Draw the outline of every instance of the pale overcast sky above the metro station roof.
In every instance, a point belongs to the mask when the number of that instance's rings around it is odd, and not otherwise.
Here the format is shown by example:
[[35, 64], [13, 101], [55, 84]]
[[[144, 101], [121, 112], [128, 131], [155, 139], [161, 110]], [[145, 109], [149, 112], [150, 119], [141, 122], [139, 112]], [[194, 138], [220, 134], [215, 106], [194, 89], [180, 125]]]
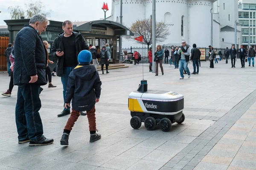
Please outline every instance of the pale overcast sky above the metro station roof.
[[[25, 3], [35, 2], [36, 0], [0, 0], [0, 25], [6, 25], [3, 20], [9, 20], [9, 6], [20, 6], [25, 9]], [[101, 9], [103, 2], [108, 3], [109, 11], [106, 17], [111, 16], [112, 0], [41, 0], [44, 2], [45, 11], [51, 10], [50, 20], [79, 20], [90, 21], [104, 18], [104, 11]], [[25, 11], [25, 10], [24, 10]]]

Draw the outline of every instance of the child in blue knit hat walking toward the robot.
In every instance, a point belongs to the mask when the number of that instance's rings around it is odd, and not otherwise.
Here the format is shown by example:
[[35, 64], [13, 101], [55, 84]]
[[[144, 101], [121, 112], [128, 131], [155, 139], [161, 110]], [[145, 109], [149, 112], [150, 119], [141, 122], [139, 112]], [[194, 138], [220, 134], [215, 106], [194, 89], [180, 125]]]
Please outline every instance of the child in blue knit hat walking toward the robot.
[[72, 127], [80, 115], [80, 111], [87, 112], [90, 130], [90, 142], [101, 138], [96, 133], [95, 103], [99, 102], [102, 82], [94, 65], [90, 65], [92, 54], [83, 50], [78, 55], [79, 65], [74, 68], [68, 77], [65, 108], [70, 107], [72, 99], [72, 112], [64, 127], [61, 145], [68, 145], [68, 138]]

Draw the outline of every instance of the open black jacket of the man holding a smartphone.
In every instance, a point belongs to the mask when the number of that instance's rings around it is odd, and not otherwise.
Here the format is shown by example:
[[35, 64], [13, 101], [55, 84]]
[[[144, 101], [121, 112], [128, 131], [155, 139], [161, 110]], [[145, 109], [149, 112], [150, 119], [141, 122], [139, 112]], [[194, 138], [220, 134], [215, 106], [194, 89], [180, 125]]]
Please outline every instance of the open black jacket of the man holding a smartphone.
[[[78, 57], [78, 54], [82, 50], [89, 50], [89, 46], [87, 43], [84, 41], [84, 37], [79, 31], [73, 31], [72, 32], [75, 35], [75, 45], [76, 45], [76, 58]], [[64, 51], [64, 45], [63, 45], [63, 36], [64, 32], [61, 32], [58, 34], [58, 37], [55, 38], [53, 44], [52, 44], [52, 57], [54, 59], [57, 59], [57, 64], [56, 64], [56, 74], [57, 76], [61, 77], [63, 73], [63, 65], [64, 65], [64, 56], [58, 57], [56, 55], [57, 49], [61, 49], [61, 51]], [[78, 62], [77, 62], [78, 64]]]

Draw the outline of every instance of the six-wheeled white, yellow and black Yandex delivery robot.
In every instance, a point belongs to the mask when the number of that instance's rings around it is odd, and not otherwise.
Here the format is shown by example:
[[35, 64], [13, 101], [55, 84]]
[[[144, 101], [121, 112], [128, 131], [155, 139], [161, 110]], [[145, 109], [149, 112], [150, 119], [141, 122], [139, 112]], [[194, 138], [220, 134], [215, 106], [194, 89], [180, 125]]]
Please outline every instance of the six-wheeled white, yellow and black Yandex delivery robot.
[[147, 80], [141, 80], [137, 91], [128, 96], [128, 108], [131, 111], [131, 127], [138, 129], [141, 122], [147, 130], [154, 130], [160, 125], [167, 132], [172, 123], [182, 123], [184, 96], [172, 91], [148, 90]]

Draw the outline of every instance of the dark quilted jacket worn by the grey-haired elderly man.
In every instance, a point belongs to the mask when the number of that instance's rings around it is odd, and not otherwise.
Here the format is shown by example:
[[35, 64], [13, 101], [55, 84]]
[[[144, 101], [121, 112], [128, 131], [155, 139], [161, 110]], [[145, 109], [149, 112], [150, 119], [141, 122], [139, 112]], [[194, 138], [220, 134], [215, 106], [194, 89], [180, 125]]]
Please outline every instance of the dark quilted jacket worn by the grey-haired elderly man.
[[46, 85], [46, 48], [37, 31], [32, 26], [25, 25], [15, 38], [15, 62], [13, 69], [13, 84], [28, 84], [30, 76], [38, 75], [33, 84]]

